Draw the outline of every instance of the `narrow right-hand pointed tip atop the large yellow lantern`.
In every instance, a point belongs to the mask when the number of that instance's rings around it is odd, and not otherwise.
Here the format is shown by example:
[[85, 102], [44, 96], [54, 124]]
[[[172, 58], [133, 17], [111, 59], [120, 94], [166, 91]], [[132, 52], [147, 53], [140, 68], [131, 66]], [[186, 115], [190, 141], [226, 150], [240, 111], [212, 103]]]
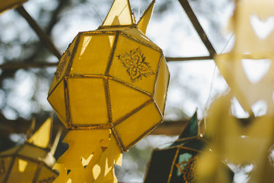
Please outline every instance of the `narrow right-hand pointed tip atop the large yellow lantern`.
[[153, 8], [154, 8], [155, 0], [151, 1], [145, 12], [142, 13], [140, 20], [137, 23], [137, 28], [144, 34], [147, 32], [147, 25], [149, 25], [149, 21], [152, 16]]

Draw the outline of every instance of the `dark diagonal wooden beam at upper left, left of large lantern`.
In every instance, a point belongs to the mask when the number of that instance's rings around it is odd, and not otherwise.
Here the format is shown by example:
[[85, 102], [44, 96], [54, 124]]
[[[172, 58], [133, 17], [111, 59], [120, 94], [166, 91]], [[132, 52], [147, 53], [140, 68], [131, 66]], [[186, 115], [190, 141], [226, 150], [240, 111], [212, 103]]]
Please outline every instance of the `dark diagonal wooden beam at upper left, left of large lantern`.
[[47, 36], [47, 34], [45, 34], [45, 32], [42, 31], [38, 23], [36, 23], [36, 21], [32, 19], [32, 16], [29, 15], [25, 8], [21, 5], [18, 8], [16, 8], [16, 10], [19, 14], [21, 14], [21, 16], [25, 18], [27, 23], [29, 23], [30, 27], [34, 29], [34, 32], [36, 32], [37, 36], [40, 38], [42, 43], [58, 58], [58, 60], [60, 60], [61, 54], [58, 51], [58, 49], [56, 49], [55, 45], [53, 44], [49, 36]]

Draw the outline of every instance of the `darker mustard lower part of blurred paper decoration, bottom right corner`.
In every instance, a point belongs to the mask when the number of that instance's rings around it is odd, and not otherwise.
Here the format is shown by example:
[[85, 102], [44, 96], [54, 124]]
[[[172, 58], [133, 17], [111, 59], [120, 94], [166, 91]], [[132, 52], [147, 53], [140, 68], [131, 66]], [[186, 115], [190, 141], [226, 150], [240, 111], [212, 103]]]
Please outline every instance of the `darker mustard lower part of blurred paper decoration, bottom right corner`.
[[[232, 115], [233, 97], [229, 93], [212, 103], [204, 136], [208, 140], [208, 146], [218, 158], [234, 164], [235, 167], [253, 167], [249, 173], [249, 182], [273, 182], [271, 152], [274, 143], [274, 117], [264, 115], [242, 123]], [[198, 171], [203, 178], [200, 182], [212, 182], [216, 175], [222, 173], [220, 164], [210, 154], [201, 154], [200, 162], [203, 165]]]

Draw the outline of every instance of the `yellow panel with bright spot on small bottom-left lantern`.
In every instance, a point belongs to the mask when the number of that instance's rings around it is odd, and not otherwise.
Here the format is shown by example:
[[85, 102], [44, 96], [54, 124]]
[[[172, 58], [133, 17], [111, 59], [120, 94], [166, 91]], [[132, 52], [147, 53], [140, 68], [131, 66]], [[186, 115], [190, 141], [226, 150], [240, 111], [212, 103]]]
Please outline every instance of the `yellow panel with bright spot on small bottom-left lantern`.
[[29, 183], [34, 180], [34, 175], [37, 170], [37, 164], [27, 159], [18, 158], [14, 159], [14, 165], [10, 172], [8, 183], [22, 182]]

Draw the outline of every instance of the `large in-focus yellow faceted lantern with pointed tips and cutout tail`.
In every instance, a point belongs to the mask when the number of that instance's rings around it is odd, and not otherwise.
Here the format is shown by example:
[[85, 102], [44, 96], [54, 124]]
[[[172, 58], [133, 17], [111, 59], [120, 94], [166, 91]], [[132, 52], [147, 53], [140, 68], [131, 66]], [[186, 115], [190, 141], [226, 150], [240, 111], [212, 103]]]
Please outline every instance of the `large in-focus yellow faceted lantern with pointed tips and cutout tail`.
[[169, 70], [145, 36], [154, 3], [135, 23], [129, 1], [115, 0], [103, 24], [63, 54], [48, 97], [69, 130], [56, 181], [116, 181], [121, 152], [163, 121]]

